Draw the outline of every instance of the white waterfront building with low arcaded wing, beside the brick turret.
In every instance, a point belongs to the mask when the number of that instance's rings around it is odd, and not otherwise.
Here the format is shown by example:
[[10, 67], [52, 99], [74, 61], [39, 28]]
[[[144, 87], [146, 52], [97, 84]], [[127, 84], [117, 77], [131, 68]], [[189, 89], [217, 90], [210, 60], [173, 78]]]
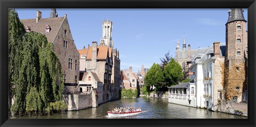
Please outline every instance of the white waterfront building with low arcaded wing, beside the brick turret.
[[222, 98], [225, 52], [225, 44], [219, 42], [199, 48], [187, 62], [190, 82], [169, 87], [169, 102], [215, 111], [218, 98]]

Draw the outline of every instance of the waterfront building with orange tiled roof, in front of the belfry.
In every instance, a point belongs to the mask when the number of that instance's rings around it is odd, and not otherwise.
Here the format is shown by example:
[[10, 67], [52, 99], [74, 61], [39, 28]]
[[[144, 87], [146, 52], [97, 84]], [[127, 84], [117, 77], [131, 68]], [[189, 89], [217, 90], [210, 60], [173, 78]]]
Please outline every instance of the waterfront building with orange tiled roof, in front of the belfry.
[[[102, 89], [95, 86], [98, 91], [102, 91], [102, 100], [104, 103], [113, 99], [114, 86], [111, 84], [111, 74], [113, 67], [113, 55], [112, 48], [107, 46], [98, 46], [96, 41], [92, 42], [92, 46], [78, 50], [80, 63], [84, 64], [84, 69], [81, 69], [81, 73], [92, 72], [95, 77], [99, 78], [99, 81], [103, 83]], [[83, 60], [85, 59], [85, 60]], [[81, 65], [82, 66], [82, 65]], [[80, 75], [79, 79], [82, 79]], [[83, 82], [89, 81], [89, 77], [85, 78]], [[94, 83], [94, 82], [92, 82]], [[95, 84], [95, 83], [94, 83]]]

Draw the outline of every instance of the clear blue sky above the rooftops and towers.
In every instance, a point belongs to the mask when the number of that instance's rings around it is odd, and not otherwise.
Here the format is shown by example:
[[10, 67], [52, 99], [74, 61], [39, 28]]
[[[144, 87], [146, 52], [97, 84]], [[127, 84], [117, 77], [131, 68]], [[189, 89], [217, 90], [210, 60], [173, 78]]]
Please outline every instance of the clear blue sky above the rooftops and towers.
[[[51, 9], [16, 9], [20, 19], [35, 19], [36, 10], [49, 18]], [[214, 41], [225, 43], [229, 9], [57, 9], [67, 14], [77, 49], [100, 43], [102, 21], [113, 22], [114, 48], [119, 50], [121, 70], [141, 65], [150, 68], [170, 51], [175, 56], [177, 40], [182, 49], [183, 35], [191, 49], [208, 47]], [[247, 9], [244, 9], [247, 20]]]

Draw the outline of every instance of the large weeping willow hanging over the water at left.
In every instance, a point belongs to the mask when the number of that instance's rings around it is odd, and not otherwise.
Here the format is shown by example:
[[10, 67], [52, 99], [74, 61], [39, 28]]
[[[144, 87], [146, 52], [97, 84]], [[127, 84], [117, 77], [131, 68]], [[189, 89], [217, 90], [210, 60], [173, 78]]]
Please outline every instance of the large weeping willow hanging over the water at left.
[[[9, 19], [12, 16], [17, 16], [17, 18], [9, 22], [9, 25], [13, 22], [20, 22], [15, 10], [9, 11]], [[53, 52], [52, 43], [48, 43], [45, 35], [41, 33], [20, 33], [23, 34], [22, 38], [18, 39], [21, 45], [18, 44], [19, 46], [16, 48], [19, 50], [19, 54], [10, 54], [12, 57], [9, 59], [12, 61], [15, 60], [13, 57], [19, 57], [19, 59], [16, 58], [18, 62], [14, 61], [13, 63], [20, 64], [18, 67], [14, 64], [13, 67], [16, 71], [13, 76], [9, 75], [13, 82], [15, 96], [11, 111], [15, 114], [42, 115], [66, 109], [66, 104], [62, 100], [64, 84], [61, 76], [61, 64], [58, 56]], [[17, 39], [15, 36], [13, 38]], [[10, 39], [9, 41], [11, 41]], [[10, 45], [9, 43], [9, 47]], [[11, 65], [9, 64], [9, 69], [12, 67]]]

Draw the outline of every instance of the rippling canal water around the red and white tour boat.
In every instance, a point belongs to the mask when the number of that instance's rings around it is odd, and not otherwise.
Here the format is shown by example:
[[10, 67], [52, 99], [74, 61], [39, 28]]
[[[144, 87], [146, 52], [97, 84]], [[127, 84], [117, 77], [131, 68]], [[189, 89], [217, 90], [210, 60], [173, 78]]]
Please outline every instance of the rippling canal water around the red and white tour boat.
[[[140, 107], [142, 113], [125, 117], [109, 117], [107, 111], [115, 107]], [[212, 112], [207, 109], [187, 107], [168, 103], [168, 99], [122, 98], [101, 104], [97, 108], [66, 111], [44, 116], [9, 116], [9, 118], [247, 118], [227, 113]]]

